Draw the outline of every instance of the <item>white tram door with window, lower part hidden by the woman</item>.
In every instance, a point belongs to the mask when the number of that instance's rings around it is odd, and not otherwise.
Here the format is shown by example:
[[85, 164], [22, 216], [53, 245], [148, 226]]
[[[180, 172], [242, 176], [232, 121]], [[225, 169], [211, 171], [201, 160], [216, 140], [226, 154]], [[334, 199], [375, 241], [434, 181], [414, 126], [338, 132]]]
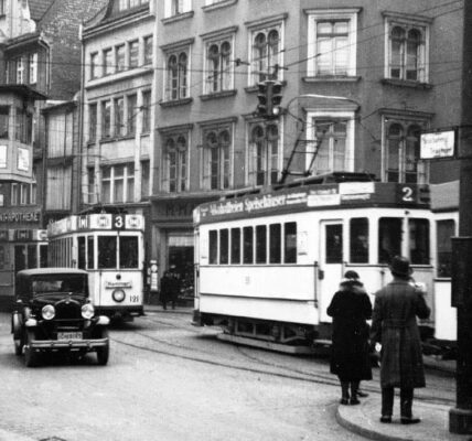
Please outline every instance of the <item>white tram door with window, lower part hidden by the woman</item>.
[[321, 222], [320, 241], [320, 272], [318, 280], [320, 321], [328, 322], [331, 321], [331, 318], [326, 314], [326, 309], [343, 277], [342, 222]]

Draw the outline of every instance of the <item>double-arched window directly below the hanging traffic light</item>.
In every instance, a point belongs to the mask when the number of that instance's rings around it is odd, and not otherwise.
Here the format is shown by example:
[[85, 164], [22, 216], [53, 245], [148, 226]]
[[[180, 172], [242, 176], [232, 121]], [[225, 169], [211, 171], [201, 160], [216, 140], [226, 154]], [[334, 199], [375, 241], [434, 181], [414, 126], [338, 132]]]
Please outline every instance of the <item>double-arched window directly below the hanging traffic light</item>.
[[277, 123], [257, 123], [250, 127], [249, 185], [270, 185], [278, 181], [280, 139]]

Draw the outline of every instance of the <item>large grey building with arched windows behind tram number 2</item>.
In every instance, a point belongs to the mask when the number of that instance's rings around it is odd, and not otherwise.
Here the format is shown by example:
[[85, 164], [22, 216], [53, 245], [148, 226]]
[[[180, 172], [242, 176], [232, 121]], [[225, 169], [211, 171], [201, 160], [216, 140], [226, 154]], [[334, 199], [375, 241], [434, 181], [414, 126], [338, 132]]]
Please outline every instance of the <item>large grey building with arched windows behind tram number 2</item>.
[[[152, 256], [192, 271], [192, 208], [291, 174], [457, 178], [419, 158], [422, 130], [460, 115], [462, 2], [158, 2]], [[255, 114], [283, 84], [281, 117]], [[294, 179], [290, 176], [289, 179]]]

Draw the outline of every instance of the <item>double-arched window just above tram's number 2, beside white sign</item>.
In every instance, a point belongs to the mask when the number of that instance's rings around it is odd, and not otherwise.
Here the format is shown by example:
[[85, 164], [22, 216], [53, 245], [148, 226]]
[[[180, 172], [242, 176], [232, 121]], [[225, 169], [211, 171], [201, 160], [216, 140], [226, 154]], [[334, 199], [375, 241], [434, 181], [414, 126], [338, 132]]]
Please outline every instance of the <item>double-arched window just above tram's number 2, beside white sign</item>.
[[420, 133], [421, 126], [416, 122], [388, 123], [384, 159], [387, 182], [426, 182], [426, 165], [419, 159]]

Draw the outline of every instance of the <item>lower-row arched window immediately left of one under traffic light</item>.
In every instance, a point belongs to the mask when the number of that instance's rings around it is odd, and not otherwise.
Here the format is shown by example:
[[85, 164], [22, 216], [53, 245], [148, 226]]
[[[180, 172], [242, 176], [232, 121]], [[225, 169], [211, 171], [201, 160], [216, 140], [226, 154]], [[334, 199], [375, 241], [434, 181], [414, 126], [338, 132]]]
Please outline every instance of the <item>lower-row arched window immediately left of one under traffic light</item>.
[[232, 136], [229, 128], [208, 129], [204, 132], [204, 187], [229, 189]]

